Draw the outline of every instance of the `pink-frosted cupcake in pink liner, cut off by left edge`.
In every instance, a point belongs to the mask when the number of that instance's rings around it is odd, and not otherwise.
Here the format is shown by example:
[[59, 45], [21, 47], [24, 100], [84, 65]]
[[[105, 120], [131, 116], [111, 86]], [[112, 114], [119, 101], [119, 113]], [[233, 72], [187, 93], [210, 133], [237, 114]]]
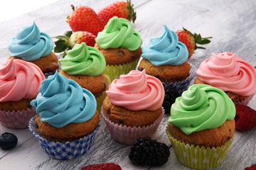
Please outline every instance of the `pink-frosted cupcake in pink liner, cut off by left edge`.
[[6, 128], [27, 128], [36, 115], [30, 102], [36, 98], [43, 72], [23, 60], [6, 60], [0, 67], [0, 122]]

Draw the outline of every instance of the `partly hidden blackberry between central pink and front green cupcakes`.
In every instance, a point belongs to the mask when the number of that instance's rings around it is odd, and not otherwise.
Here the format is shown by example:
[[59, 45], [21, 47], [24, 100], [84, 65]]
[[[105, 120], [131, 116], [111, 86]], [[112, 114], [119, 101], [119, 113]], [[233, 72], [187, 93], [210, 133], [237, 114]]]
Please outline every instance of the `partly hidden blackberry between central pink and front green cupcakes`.
[[176, 98], [180, 96], [176, 89], [170, 86], [164, 86], [164, 102], [162, 106], [164, 107], [164, 113], [169, 114], [171, 112], [171, 105], [175, 102]]

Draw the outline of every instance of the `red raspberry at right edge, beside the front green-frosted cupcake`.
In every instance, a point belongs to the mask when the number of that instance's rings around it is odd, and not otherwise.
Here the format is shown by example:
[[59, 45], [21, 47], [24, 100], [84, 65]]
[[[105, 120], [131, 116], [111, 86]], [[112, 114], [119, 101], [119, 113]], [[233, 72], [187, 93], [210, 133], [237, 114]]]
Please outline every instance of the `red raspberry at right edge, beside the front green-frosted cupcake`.
[[256, 126], [256, 111], [249, 106], [235, 105], [235, 129], [240, 131], [251, 130]]

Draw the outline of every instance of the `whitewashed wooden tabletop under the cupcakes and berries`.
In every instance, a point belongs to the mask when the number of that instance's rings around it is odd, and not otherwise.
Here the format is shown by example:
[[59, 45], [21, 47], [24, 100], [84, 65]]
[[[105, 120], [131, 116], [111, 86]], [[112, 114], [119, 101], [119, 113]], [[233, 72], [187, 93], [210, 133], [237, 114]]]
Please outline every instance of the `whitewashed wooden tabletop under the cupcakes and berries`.
[[[115, 0], [94, 1], [74, 0], [57, 1], [53, 4], [26, 13], [23, 16], [4, 21], [0, 25], [0, 64], [9, 55], [7, 46], [9, 39], [23, 26], [30, 26], [36, 21], [38, 28], [50, 36], [63, 35], [70, 30], [65, 18], [71, 13], [70, 4], [74, 6], [91, 6], [95, 11]], [[256, 1], [255, 0], [133, 0], [137, 11], [134, 28], [139, 31], [146, 45], [151, 38], [164, 33], [163, 25], [171, 30], [182, 27], [203, 37], [213, 36], [212, 42], [206, 45], [207, 50], [197, 50], [189, 59], [196, 67], [210, 57], [212, 52], [234, 52], [242, 59], [256, 66]], [[11, 10], [11, 7], [8, 7]], [[256, 87], [255, 87], [256, 88]], [[256, 109], [256, 97], [249, 103]], [[51, 159], [43, 151], [41, 145], [28, 129], [12, 130], [0, 125], [0, 133], [12, 132], [18, 137], [16, 148], [4, 151], [0, 149], [0, 169], [80, 169], [88, 164], [114, 162], [122, 169], [188, 169], [178, 162], [171, 143], [166, 136], [166, 123], [169, 115], [165, 115], [155, 140], [169, 145], [171, 155], [164, 166], [136, 166], [129, 161], [130, 146], [115, 142], [108, 132], [104, 120], [101, 121], [95, 142], [89, 152], [73, 160], [60, 161]], [[102, 119], [102, 118], [101, 118]], [[217, 169], [245, 169], [256, 163], [256, 128], [247, 132], [235, 132], [235, 141], [226, 157]]]

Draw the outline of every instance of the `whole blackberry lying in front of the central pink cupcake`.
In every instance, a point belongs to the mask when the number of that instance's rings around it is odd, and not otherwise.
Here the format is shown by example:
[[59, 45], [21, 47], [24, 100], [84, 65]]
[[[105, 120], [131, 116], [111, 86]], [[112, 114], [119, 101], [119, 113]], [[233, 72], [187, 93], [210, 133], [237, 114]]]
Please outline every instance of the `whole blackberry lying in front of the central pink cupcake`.
[[169, 156], [169, 147], [150, 137], [139, 137], [129, 152], [132, 163], [142, 165], [160, 166], [168, 161]]

